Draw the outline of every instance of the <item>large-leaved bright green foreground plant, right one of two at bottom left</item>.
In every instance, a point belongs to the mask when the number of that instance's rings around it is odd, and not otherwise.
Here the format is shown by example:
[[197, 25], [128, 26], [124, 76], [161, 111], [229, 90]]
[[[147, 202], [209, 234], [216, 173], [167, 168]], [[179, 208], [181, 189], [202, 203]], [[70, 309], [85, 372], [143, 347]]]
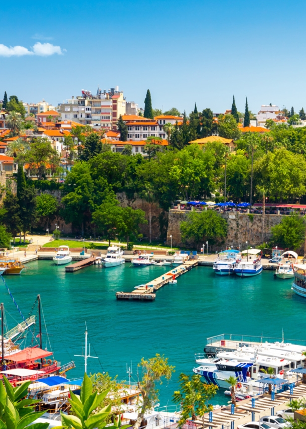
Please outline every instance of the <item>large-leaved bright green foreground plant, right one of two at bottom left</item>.
[[[108, 405], [99, 411], [97, 411], [97, 409], [100, 408], [100, 404], [105, 400], [109, 390], [110, 389], [107, 389], [98, 394], [98, 390], [93, 389], [92, 380], [85, 373], [80, 396], [75, 395], [70, 390], [69, 402], [73, 414], [76, 415], [67, 415], [61, 411], [63, 426], [73, 427], [74, 429], [102, 429], [105, 427], [109, 421], [111, 404], [108, 403]], [[114, 424], [107, 427], [109, 427], [109, 429], [118, 429], [120, 427], [120, 417], [115, 419]], [[121, 426], [121, 429], [126, 429], [127, 427], [128, 425], [124, 425]]]

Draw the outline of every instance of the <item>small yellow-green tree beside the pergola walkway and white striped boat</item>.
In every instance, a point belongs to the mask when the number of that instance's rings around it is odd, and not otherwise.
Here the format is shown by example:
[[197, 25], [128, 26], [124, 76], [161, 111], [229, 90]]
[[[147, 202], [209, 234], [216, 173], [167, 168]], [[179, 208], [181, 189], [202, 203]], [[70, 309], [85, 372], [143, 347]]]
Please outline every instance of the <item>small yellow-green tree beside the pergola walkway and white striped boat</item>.
[[204, 414], [213, 409], [208, 401], [215, 396], [218, 386], [202, 383], [200, 375], [197, 374], [189, 376], [182, 373], [179, 383], [180, 390], [175, 391], [173, 395], [174, 402], [182, 406], [178, 426], [183, 427], [190, 417], [196, 420], [197, 415], [203, 416], [204, 423]]

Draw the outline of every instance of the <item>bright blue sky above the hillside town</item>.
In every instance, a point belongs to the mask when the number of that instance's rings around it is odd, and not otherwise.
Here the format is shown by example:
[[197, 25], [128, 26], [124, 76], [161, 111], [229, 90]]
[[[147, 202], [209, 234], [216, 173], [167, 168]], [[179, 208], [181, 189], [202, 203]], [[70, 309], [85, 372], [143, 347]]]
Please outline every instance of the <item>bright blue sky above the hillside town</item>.
[[306, 109], [304, 20], [300, 0], [3, 2], [0, 98], [57, 104], [119, 85], [139, 106], [149, 88], [163, 110], [221, 113], [233, 94], [239, 111], [245, 96], [253, 112]]

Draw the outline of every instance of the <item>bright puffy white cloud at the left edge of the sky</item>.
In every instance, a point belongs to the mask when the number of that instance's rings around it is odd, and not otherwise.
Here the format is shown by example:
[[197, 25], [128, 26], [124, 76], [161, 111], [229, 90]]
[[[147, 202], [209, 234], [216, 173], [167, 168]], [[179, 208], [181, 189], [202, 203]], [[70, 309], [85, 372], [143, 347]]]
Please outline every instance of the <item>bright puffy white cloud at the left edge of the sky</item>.
[[62, 55], [66, 49], [61, 49], [60, 46], [52, 45], [51, 43], [37, 42], [32, 47], [32, 50], [24, 46], [5, 46], [0, 43], [0, 57], [21, 57], [23, 55], [38, 55], [41, 57], [48, 57], [53, 54]]

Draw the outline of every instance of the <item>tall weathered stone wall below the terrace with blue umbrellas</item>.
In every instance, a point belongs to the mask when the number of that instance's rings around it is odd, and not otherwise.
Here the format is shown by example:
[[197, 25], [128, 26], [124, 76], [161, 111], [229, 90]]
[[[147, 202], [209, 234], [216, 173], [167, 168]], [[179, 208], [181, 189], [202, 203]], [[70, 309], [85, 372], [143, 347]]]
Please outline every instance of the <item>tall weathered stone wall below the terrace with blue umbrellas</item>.
[[[188, 211], [169, 210], [169, 225], [167, 233], [167, 244], [170, 245], [172, 235], [173, 246], [183, 246], [181, 240], [180, 224], [187, 218]], [[245, 247], [248, 241], [250, 246], [256, 246], [262, 243], [262, 217], [261, 215], [247, 215], [237, 211], [227, 211], [221, 213], [226, 219], [228, 225], [227, 237], [224, 245], [239, 248]], [[268, 242], [271, 238], [271, 227], [278, 225], [283, 215], [265, 215], [264, 241]], [[202, 243], [201, 243], [202, 244]], [[224, 245], [222, 248], [224, 248]], [[303, 246], [300, 253], [302, 253]], [[220, 246], [213, 246], [211, 250], [221, 250]]]

